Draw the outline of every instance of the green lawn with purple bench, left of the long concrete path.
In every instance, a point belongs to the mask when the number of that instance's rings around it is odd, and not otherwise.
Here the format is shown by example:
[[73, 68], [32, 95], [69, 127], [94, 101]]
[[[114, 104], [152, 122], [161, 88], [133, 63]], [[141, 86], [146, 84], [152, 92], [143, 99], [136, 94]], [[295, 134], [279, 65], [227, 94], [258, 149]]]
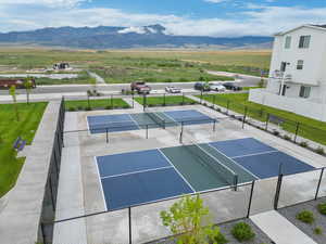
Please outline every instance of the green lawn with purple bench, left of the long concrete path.
[[47, 103], [18, 103], [20, 121], [12, 104], [0, 104], [0, 197], [12, 189], [25, 158], [16, 158], [12, 149], [18, 136], [30, 144], [41, 120]]

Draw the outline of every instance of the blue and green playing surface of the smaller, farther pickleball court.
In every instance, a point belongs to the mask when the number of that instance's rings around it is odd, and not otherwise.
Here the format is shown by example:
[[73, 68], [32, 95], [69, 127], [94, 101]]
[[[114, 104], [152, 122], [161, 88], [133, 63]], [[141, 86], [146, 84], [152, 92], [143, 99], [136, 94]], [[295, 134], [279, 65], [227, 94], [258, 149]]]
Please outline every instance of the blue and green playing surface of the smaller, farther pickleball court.
[[[153, 116], [149, 116], [154, 115]], [[158, 118], [154, 120], [153, 118]], [[158, 124], [159, 121], [159, 124]], [[161, 123], [163, 121], [163, 123]], [[122, 114], [122, 115], [97, 115], [88, 116], [87, 123], [91, 133], [104, 133], [162, 127], [161, 124], [168, 126], [200, 125], [216, 121], [208, 115], [196, 110], [155, 112], [141, 114]]]

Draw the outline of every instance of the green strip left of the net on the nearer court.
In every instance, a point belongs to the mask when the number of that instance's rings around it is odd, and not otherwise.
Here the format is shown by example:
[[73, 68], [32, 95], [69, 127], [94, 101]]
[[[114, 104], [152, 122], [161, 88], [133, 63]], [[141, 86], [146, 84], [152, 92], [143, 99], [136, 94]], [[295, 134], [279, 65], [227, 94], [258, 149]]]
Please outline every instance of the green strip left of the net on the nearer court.
[[186, 178], [196, 192], [228, 187], [221, 176], [216, 176], [209, 166], [204, 166], [186, 146], [161, 149], [164, 155]]

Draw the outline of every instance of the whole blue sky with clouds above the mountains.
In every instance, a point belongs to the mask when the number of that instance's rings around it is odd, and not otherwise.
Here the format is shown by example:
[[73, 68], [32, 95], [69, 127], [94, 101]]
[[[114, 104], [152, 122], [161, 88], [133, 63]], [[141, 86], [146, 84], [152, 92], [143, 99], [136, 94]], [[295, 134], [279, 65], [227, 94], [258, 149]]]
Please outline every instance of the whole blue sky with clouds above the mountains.
[[171, 35], [271, 36], [326, 24], [326, 0], [0, 0], [0, 31], [161, 24]]

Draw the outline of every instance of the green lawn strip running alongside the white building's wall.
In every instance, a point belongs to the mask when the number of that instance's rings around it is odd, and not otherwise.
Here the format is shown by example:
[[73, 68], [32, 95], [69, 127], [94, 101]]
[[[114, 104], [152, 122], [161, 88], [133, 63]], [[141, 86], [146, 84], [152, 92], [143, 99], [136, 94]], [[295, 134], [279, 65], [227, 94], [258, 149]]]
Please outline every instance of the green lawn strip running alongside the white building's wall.
[[[200, 95], [197, 97], [200, 98]], [[297, 123], [299, 123], [299, 136], [322, 144], [326, 144], [326, 123], [308, 118], [287, 111], [249, 102], [248, 97], [248, 93], [216, 94], [214, 99], [213, 94], [204, 94], [203, 100], [206, 100], [211, 103], [213, 103], [214, 101], [215, 104], [224, 107], [227, 107], [227, 103], [229, 101], [229, 110], [235, 111], [239, 114], [244, 114], [244, 107], [247, 106], [248, 115], [261, 121], [266, 121], [267, 114], [273, 114], [275, 116], [285, 118], [286, 121], [283, 123], [281, 127], [283, 129], [292, 133], [296, 132]]]

